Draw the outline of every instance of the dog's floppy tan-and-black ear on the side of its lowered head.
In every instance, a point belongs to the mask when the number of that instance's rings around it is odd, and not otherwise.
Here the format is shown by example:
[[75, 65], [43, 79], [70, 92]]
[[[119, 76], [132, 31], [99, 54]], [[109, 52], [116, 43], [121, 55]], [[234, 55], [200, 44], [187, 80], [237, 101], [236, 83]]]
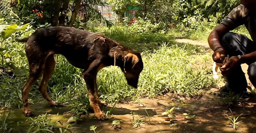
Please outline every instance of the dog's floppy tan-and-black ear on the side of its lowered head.
[[138, 56], [132, 53], [128, 53], [124, 57], [124, 60], [125, 60], [124, 69], [127, 72], [131, 71], [134, 68], [134, 66], [139, 62]]

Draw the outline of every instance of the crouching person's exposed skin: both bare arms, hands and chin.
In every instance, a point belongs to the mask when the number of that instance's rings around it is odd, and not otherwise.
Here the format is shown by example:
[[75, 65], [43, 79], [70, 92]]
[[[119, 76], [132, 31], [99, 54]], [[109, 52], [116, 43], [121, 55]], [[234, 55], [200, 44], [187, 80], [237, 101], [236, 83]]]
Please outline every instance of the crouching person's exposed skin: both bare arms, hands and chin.
[[[256, 1], [255, 0], [240, 0], [241, 4], [243, 4], [249, 12], [256, 11]], [[226, 55], [225, 49], [221, 46], [221, 38], [227, 32], [234, 30], [228, 29], [226, 26], [219, 24], [214, 28], [211, 34], [208, 37], [208, 43], [210, 48], [214, 51], [212, 54], [212, 59], [216, 63], [222, 63], [221, 55]], [[221, 74], [223, 76], [227, 76], [231, 73], [231, 71], [236, 68], [238, 65], [246, 63], [246, 62], [255, 62], [256, 61], [256, 51], [251, 52], [246, 55], [241, 55], [239, 59], [238, 56], [232, 56], [227, 63], [225, 63], [221, 68]]]

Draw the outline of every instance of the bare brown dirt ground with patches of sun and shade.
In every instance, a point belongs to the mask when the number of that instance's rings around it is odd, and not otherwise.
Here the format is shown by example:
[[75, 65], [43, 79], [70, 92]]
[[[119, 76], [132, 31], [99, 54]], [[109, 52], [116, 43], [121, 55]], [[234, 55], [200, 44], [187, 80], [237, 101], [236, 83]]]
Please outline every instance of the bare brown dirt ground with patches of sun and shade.
[[[177, 39], [177, 42], [199, 44], [209, 50], [207, 42], [197, 42], [188, 39]], [[246, 65], [242, 65], [244, 72], [247, 71]], [[247, 74], [246, 74], [247, 75]], [[246, 76], [248, 79], [248, 75]], [[249, 82], [249, 80], [248, 80]], [[242, 99], [231, 110], [235, 116], [244, 113], [239, 121], [241, 128], [237, 130], [227, 127], [229, 124], [228, 118], [225, 114], [232, 116], [229, 109], [226, 106], [222, 106], [219, 103], [219, 99], [213, 95], [213, 92], [217, 88], [206, 91], [202, 97], [197, 99], [190, 99], [188, 97], [182, 97], [174, 94], [165, 94], [155, 99], [141, 98], [138, 103], [132, 101], [121, 101], [118, 103], [111, 114], [113, 114], [109, 120], [98, 121], [91, 114], [89, 117], [82, 116], [80, 121], [72, 124], [72, 126], [79, 127], [72, 129], [74, 133], [93, 133], [89, 130], [91, 125], [97, 126], [96, 132], [100, 133], [256, 133], [256, 98]], [[251, 84], [249, 84], [251, 85]], [[34, 106], [34, 107], [33, 107]], [[162, 115], [166, 109], [170, 109], [175, 106], [173, 110], [174, 117], [172, 120], [168, 119], [166, 115]], [[58, 119], [67, 125], [69, 117], [64, 117], [62, 114], [67, 112], [66, 107], [49, 107], [46, 101], [35, 103], [31, 106], [35, 116], [39, 114], [48, 113], [49, 117]], [[36, 110], [35, 110], [36, 109]], [[109, 110], [110, 107], [103, 110]], [[15, 110], [15, 117], [17, 121], [24, 121], [26, 118], [22, 114], [22, 110]], [[140, 119], [144, 120], [145, 124], [140, 128], [132, 129], [131, 124], [132, 115], [131, 112], [140, 115]], [[184, 118], [183, 113], [190, 113], [195, 115], [194, 121], [188, 121]], [[111, 122], [113, 120], [122, 120], [120, 124], [121, 129], [114, 129]], [[177, 124], [172, 128], [170, 124]], [[22, 127], [19, 127], [22, 130]], [[17, 128], [16, 130], [19, 130]]]

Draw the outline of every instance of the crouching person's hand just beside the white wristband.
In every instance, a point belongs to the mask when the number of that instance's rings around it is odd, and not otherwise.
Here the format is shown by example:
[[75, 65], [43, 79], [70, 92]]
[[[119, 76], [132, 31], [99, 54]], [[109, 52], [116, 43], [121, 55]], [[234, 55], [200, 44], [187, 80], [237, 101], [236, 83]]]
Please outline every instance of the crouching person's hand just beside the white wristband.
[[220, 68], [221, 74], [223, 76], [229, 75], [231, 73], [231, 71], [234, 68], [236, 68], [238, 65], [240, 65], [238, 56], [232, 56], [231, 58], [229, 58], [229, 60], [227, 60], [227, 63], [225, 63]]

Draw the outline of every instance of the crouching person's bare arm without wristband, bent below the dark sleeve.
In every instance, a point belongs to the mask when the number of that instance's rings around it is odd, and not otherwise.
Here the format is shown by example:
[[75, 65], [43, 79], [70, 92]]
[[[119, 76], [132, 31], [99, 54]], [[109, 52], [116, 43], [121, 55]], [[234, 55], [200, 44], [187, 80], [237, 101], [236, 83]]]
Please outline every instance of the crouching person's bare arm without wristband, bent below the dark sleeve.
[[222, 63], [221, 54], [226, 55], [224, 48], [221, 46], [221, 39], [229, 31], [226, 26], [219, 24], [212, 30], [208, 37], [209, 46], [214, 51], [214, 54], [212, 54], [214, 62]]

